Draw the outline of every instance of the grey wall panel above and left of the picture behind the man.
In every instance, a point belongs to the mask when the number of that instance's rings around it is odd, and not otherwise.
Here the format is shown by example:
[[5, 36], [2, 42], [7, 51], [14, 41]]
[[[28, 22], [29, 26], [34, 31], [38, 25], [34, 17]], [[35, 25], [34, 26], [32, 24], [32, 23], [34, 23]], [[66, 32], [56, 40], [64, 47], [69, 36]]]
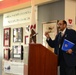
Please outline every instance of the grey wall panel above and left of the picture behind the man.
[[38, 7], [38, 43], [42, 43], [42, 22], [64, 19], [64, 0]]

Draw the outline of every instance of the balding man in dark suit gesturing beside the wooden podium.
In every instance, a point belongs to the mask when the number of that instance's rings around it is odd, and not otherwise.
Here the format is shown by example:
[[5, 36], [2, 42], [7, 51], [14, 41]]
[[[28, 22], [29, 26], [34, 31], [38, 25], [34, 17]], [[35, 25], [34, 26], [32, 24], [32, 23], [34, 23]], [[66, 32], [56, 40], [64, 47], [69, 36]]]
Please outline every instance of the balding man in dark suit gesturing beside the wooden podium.
[[[76, 31], [73, 29], [67, 29], [67, 22], [60, 20], [58, 22], [59, 33], [55, 40], [52, 40], [49, 36], [49, 32], [45, 32], [47, 37], [46, 41], [49, 46], [55, 48], [55, 54], [58, 55], [58, 65], [60, 66], [60, 75], [75, 75], [76, 66]], [[62, 34], [62, 36], [61, 36]], [[62, 44], [64, 39], [73, 42], [75, 45], [67, 50], [62, 50]]]

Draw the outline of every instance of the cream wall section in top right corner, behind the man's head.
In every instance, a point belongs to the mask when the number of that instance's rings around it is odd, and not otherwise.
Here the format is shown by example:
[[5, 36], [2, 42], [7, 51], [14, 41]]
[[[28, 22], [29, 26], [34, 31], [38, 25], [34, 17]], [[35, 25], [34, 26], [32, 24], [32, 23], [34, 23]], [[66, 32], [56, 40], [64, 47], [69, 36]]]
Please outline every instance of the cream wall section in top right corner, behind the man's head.
[[75, 25], [75, 17], [76, 17], [76, 1], [74, 0], [66, 0], [65, 1], [65, 20], [67, 21], [67, 24], [68, 23], [68, 20], [71, 19], [72, 20], [72, 28], [76, 30], [76, 25]]

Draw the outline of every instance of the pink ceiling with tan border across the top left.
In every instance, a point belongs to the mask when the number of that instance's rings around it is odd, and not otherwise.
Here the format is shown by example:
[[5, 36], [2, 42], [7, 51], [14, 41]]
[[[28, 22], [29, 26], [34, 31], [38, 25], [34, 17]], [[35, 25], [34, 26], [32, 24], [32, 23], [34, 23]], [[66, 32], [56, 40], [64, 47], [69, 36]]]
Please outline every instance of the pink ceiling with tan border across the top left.
[[[9, 3], [10, 6], [8, 6], [9, 1], [12, 1], [11, 3]], [[14, 1], [17, 4], [14, 3], [15, 5], [12, 5]], [[23, 1], [23, 3], [21, 1]], [[48, 3], [48, 2], [52, 3], [55, 1], [58, 1], [58, 0], [34, 0], [34, 3], [35, 3], [35, 5], [39, 5], [39, 4], [44, 4], [44, 3]], [[6, 3], [7, 3], [7, 5], [6, 5]], [[4, 7], [2, 7], [2, 6], [4, 6]], [[4, 1], [0, 2], [0, 14], [10, 12], [10, 11], [14, 11], [17, 9], [26, 8], [29, 6], [31, 6], [31, 0], [4, 0]]]

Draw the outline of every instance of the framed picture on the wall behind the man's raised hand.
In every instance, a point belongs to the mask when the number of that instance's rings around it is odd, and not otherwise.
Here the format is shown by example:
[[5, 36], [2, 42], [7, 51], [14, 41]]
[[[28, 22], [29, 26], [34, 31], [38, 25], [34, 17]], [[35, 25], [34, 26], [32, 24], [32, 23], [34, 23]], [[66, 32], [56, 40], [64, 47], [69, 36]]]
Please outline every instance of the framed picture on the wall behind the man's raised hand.
[[54, 40], [57, 35], [57, 21], [43, 23], [43, 45], [47, 47], [45, 32], [48, 32], [51, 39]]

